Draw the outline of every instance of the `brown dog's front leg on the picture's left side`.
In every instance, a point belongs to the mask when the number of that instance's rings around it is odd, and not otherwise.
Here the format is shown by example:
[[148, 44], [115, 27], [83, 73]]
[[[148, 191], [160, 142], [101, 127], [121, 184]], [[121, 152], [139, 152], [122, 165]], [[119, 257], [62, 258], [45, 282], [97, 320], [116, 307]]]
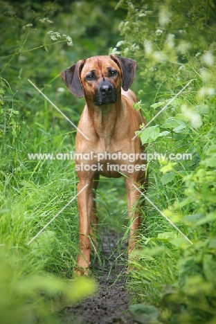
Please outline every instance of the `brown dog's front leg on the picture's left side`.
[[78, 267], [75, 269], [77, 275], [87, 275], [90, 264], [91, 240], [89, 237], [91, 212], [93, 208], [93, 175], [78, 174], [80, 182], [78, 183], [78, 193], [84, 186], [87, 186], [80, 195], [78, 195], [78, 213], [79, 213], [79, 248]]

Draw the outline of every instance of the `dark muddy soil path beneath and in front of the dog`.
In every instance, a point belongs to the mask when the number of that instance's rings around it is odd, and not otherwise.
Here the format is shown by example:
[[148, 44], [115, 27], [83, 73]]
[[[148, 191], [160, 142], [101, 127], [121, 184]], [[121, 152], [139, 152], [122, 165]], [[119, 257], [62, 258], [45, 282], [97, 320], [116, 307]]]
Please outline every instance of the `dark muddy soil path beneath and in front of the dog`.
[[103, 234], [102, 264], [93, 264], [93, 275], [98, 276], [98, 292], [82, 303], [67, 307], [61, 314], [62, 324], [133, 324], [128, 312], [130, 296], [125, 289], [126, 244], [118, 244], [115, 231]]

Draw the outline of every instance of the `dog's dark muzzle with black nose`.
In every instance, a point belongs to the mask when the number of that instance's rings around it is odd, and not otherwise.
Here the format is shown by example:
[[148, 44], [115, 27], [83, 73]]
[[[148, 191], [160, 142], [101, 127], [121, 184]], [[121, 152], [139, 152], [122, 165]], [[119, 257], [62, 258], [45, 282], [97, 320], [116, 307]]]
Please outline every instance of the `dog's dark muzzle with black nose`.
[[101, 82], [98, 90], [96, 91], [95, 100], [93, 103], [96, 106], [109, 105], [116, 102], [117, 100], [117, 91], [114, 86], [107, 81]]

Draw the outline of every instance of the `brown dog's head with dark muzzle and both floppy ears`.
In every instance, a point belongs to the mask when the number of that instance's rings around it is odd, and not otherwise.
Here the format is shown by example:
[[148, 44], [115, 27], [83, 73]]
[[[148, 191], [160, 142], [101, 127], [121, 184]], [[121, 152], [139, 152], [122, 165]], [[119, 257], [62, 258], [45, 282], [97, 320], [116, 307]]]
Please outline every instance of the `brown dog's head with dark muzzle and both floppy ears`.
[[96, 106], [118, 100], [121, 87], [127, 91], [134, 81], [136, 61], [116, 55], [80, 60], [61, 73], [74, 96], [91, 100]]

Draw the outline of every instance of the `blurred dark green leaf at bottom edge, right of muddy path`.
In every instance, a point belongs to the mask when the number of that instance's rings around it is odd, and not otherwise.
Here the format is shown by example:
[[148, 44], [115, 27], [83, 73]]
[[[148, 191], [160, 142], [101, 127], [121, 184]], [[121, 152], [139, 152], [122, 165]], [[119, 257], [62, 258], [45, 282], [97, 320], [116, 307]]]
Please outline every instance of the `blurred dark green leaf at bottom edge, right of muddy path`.
[[135, 304], [129, 306], [129, 312], [132, 314], [134, 321], [141, 324], [152, 323], [159, 317], [159, 310], [150, 305]]

